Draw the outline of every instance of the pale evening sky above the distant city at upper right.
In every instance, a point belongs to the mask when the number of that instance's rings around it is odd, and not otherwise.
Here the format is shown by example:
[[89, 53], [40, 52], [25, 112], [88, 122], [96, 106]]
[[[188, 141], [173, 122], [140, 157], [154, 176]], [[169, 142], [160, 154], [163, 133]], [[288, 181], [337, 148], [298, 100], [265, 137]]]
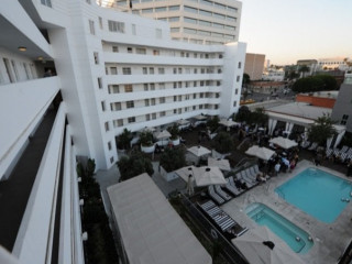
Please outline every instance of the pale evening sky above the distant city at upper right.
[[352, 58], [352, 0], [240, 0], [240, 42], [274, 65]]

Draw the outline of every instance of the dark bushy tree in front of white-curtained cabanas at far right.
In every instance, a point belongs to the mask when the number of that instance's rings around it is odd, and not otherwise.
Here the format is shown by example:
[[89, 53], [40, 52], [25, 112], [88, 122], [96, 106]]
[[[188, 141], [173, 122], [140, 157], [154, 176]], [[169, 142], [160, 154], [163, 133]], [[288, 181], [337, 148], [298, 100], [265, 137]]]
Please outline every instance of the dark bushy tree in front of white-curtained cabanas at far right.
[[337, 133], [336, 129], [333, 128], [333, 123], [334, 122], [329, 116], [318, 118], [315, 124], [309, 129], [309, 140], [323, 146], [327, 140]]

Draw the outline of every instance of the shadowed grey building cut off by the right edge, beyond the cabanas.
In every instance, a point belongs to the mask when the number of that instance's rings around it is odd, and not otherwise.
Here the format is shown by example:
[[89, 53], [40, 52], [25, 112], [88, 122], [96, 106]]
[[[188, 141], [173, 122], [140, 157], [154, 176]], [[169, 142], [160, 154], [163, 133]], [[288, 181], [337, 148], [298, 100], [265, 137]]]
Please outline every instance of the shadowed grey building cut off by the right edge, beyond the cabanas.
[[352, 132], [352, 74], [346, 74], [332, 109], [331, 118]]

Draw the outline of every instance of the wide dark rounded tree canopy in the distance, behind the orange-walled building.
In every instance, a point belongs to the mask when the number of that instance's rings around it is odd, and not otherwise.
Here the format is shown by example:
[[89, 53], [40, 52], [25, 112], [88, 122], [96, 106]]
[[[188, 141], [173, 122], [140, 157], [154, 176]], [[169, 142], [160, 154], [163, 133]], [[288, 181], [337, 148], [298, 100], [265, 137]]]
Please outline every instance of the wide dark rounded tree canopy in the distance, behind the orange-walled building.
[[322, 90], [336, 90], [337, 87], [337, 80], [332, 76], [317, 75], [297, 80], [293, 86], [293, 90], [297, 92], [311, 92]]

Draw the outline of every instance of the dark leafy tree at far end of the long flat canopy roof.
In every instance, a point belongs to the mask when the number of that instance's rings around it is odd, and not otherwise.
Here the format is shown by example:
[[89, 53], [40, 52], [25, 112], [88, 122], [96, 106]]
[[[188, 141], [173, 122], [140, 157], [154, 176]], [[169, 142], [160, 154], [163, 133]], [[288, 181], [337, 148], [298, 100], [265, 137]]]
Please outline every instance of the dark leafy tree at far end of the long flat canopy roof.
[[121, 174], [121, 180], [133, 178], [142, 173], [147, 173], [148, 175], [154, 174], [151, 160], [142, 153], [133, 153], [129, 157], [121, 157], [118, 162], [118, 167]]

